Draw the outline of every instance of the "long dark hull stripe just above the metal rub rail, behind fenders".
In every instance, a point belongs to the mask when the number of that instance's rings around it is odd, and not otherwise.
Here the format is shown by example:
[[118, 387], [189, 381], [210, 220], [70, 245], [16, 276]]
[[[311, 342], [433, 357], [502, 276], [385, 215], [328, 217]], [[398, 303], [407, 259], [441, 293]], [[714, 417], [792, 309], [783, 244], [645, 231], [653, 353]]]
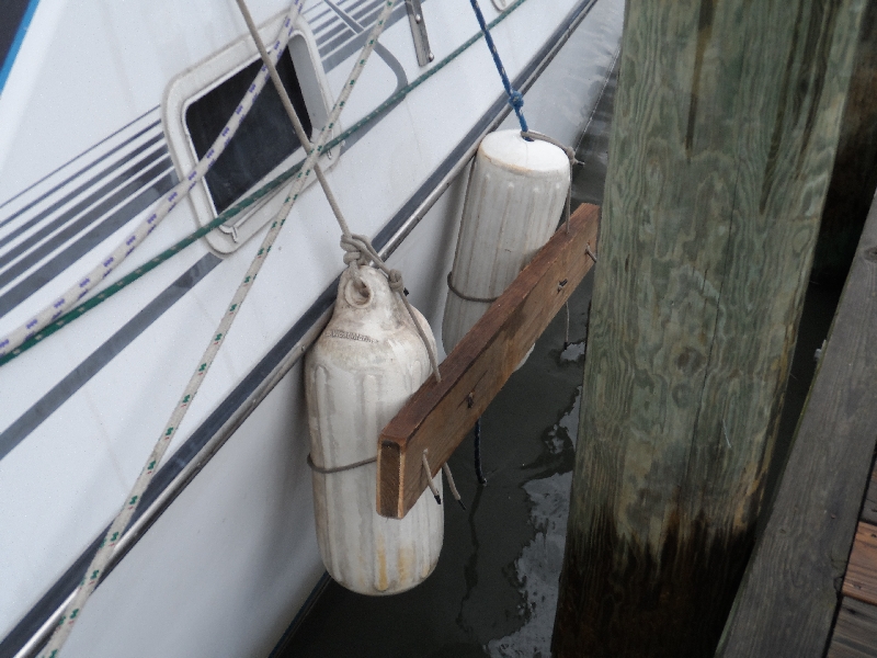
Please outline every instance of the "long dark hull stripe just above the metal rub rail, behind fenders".
[[[560, 38], [560, 36], [577, 21], [582, 20], [593, 8], [597, 0], [583, 0], [582, 3], [573, 10], [563, 21], [563, 24], [558, 27], [555, 33], [547, 39], [546, 45], [534, 56], [527, 64], [524, 70], [515, 77], [513, 86], [522, 92], [523, 83], [527, 81], [539, 66], [542, 66], [551, 48]], [[532, 82], [532, 81], [531, 81]], [[452, 154], [442, 162], [442, 164], [433, 172], [430, 178], [420, 186], [414, 195], [399, 209], [399, 212], [390, 219], [390, 222], [378, 232], [373, 245], [380, 251], [384, 246], [392, 238], [392, 236], [401, 228], [406, 220], [417, 211], [417, 208], [425, 201], [432, 190], [438, 185], [447, 172], [449, 172], [454, 164], [466, 154], [471, 145], [478, 139], [491, 123], [501, 114], [503, 109], [508, 107], [505, 95], [498, 99], [479, 120], [479, 122], [469, 131], [464, 139], [457, 145]], [[216, 410], [210, 413], [207, 419], [192, 433], [192, 435], [181, 445], [176, 452], [171, 456], [167, 464], [164, 464], [152, 479], [149, 488], [144, 492], [138, 512], [132, 523], [139, 519], [143, 511], [149, 508], [164, 489], [173, 481], [173, 479], [185, 468], [185, 466], [195, 458], [201, 452], [202, 447], [219, 431], [219, 429], [231, 418], [237, 409], [244, 405], [250, 396], [255, 392], [259, 385], [271, 375], [274, 368], [286, 358], [291, 350], [301, 340], [301, 338], [311, 328], [326, 310], [328, 310], [334, 303], [335, 290], [338, 287], [338, 279], [335, 279], [317, 298], [317, 300], [308, 308], [308, 310], [299, 318], [293, 328], [271, 349], [271, 351], [259, 362], [259, 364], [250, 371], [247, 377], [223, 400]], [[37, 402], [39, 404], [39, 402]], [[168, 501], [170, 504], [172, 499]], [[107, 526], [109, 527], [109, 526]], [[58, 579], [48, 592], [37, 602], [22, 619], [12, 632], [0, 642], [0, 658], [13, 658], [15, 653], [21, 649], [24, 644], [36, 633], [36, 631], [49, 619], [66, 598], [76, 589], [79, 581], [88, 568], [91, 557], [96, 551], [98, 544], [105, 535], [104, 532], [95, 538], [95, 541], [80, 555], [77, 561]], [[136, 542], [132, 543], [127, 551]]]

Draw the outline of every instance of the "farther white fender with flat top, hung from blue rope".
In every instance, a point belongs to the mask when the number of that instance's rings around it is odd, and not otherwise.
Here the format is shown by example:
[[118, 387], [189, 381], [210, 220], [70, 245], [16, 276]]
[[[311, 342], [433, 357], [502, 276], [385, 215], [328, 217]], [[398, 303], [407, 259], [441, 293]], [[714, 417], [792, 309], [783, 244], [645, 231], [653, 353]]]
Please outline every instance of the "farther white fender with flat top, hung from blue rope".
[[548, 241], [563, 211], [572, 151], [536, 139], [497, 131], [478, 147], [447, 275], [447, 353]]

